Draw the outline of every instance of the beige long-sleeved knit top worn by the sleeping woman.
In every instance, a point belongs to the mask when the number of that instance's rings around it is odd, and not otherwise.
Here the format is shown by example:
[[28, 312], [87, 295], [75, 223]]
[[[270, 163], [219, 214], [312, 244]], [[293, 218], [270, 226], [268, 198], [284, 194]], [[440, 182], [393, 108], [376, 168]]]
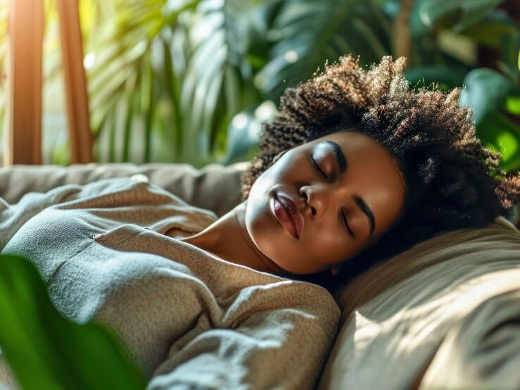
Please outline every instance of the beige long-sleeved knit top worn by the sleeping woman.
[[338, 306], [163, 234], [214, 220], [141, 175], [3, 202], [0, 245], [35, 263], [63, 315], [113, 328], [149, 389], [314, 388]]

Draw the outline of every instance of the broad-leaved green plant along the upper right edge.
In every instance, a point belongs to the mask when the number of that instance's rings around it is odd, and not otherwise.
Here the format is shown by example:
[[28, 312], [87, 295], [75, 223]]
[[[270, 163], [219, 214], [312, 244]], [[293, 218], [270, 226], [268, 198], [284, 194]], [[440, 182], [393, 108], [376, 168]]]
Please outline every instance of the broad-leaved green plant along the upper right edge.
[[516, 58], [520, 28], [497, 9], [503, 2], [423, 0], [419, 12], [434, 30], [449, 29], [463, 42], [500, 50], [497, 70], [467, 70], [461, 100], [473, 108], [479, 137], [491, 149], [502, 152], [502, 168], [511, 171], [520, 169], [520, 73]]

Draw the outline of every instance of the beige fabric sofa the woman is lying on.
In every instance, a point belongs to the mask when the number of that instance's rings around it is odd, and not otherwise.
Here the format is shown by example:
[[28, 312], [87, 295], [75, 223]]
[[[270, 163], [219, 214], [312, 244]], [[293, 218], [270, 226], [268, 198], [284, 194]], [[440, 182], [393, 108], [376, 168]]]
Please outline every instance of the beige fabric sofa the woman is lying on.
[[[221, 216], [240, 202], [247, 163], [14, 165], [0, 196], [144, 175]], [[444, 232], [333, 291], [342, 310], [318, 389], [520, 389], [520, 232], [497, 218]]]

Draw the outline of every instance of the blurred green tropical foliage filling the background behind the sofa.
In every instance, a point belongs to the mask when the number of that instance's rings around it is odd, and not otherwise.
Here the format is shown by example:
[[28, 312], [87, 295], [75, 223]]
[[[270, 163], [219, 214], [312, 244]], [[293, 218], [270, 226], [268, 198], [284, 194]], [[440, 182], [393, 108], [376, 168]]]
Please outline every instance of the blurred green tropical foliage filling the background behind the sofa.
[[[54, 0], [45, 1], [49, 27]], [[351, 53], [362, 65], [406, 56], [412, 88], [464, 85], [478, 134], [517, 170], [512, 2], [80, 0], [97, 161], [247, 159], [285, 88]]]

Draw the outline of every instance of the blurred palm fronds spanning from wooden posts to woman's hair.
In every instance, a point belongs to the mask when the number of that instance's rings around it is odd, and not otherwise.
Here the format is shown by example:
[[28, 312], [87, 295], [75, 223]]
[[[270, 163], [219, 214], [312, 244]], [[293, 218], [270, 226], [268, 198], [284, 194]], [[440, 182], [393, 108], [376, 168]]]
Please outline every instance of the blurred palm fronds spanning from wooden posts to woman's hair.
[[106, 52], [88, 74], [92, 126], [109, 134], [111, 161], [130, 159], [136, 132], [142, 161], [152, 149], [197, 166], [223, 159], [231, 118], [261, 101], [240, 40], [247, 2], [172, 4], [126, 1], [105, 17], [104, 38], [87, 44]]

